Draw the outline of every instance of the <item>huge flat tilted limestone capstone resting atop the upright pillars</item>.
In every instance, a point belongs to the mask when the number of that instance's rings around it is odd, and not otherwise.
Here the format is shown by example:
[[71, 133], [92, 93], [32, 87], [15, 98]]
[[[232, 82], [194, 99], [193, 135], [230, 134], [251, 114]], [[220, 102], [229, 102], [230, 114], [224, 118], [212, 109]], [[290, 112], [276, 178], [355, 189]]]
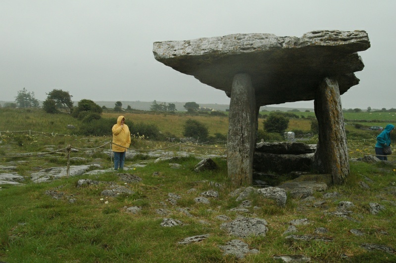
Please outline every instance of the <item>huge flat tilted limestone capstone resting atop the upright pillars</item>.
[[233, 78], [251, 77], [258, 106], [314, 99], [325, 77], [340, 93], [357, 85], [364, 65], [357, 51], [370, 47], [365, 31], [312, 31], [298, 37], [235, 34], [153, 44], [156, 60], [230, 96]]

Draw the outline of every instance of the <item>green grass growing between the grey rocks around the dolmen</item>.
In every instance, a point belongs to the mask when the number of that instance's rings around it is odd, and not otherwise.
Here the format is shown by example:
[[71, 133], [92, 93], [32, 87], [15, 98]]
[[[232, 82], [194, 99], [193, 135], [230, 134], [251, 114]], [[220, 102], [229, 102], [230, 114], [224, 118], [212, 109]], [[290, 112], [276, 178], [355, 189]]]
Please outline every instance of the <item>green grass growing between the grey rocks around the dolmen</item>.
[[[26, 129], [19, 126], [25, 115], [20, 110], [5, 111], [0, 109], [1, 131], [16, 131]], [[2, 114], [6, 113], [6, 114]], [[78, 126], [79, 123], [68, 115], [47, 115], [42, 112], [27, 112], [30, 116], [32, 130], [48, 131], [47, 119], [53, 119], [54, 132], [67, 132], [67, 124]], [[37, 116], [36, 116], [36, 115]], [[355, 114], [355, 113], [353, 113]], [[183, 124], [182, 117], [163, 115], [141, 114], [129, 116], [134, 122], [148, 121], [162, 125], [173, 120], [172, 125], [161, 129], [173, 129]], [[8, 119], [12, 116], [13, 120]], [[70, 118], [69, 118], [70, 117]], [[169, 117], [169, 118], [168, 118]], [[191, 116], [190, 116], [191, 117]], [[209, 127], [217, 126], [220, 117], [198, 116]], [[195, 118], [193, 116], [192, 118]], [[33, 119], [35, 121], [33, 121]], [[6, 121], [3, 121], [6, 120]], [[73, 122], [74, 121], [74, 122]], [[228, 122], [227, 118], [223, 120]], [[214, 122], [215, 125], [213, 125]], [[223, 125], [223, 124], [222, 124]], [[222, 127], [220, 125], [220, 127]], [[58, 127], [59, 126], [59, 127]], [[310, 123], [299, 119], [291, 122], [289, 128], [308, 131]], [[165, 128], [167, 127], [167, 128]], [[42, 130], [39, 130], [42, 129]], [[218, 129], [218, 128], [216, 128]], [[220, 129], [220, 128], [219, 128]], [[218, 131], [224, 133], [221, 128]], [[359, 153], [350, 153], [350, 157], [361, 157], [361, 152], [374, 153], [375, 136], [379, 132], [355, 129], [347, 125], [348, 148]], [[166, 131], [166, 130], [164, 130]], [[210, 131], [210, 129], [209, 129]], [[69, 131], [70, 132], [70, 131]], [[213, 131], [212, 131], [213, 132]], [[213, 132], [214, 133], [214, 132]], [[60, 149], [67, 145], [79, 148], [94, 148], [108, 141], [110, 137], [81, 137], [81, 136], [52, 136], [46, 134], [31, 134], [25, 136], [16, 132], [2, 132], [0, 140], [0, 155], [15, 153], [44, 152], [48, 146]], [[315, 143], [317, 137], [311, 138], [309, 143]], [[171, 145], [168, 142], [149, 141], [136, 139], [133, 146], [139, 149], [162, 148]], [[187, 147], [186, 147], [187, 148]], [[112, 165], [107, 155], [102, 150], [108, 145], [87, 154], [85, 151], [72, 152], [71, 157], [83, 157], [86, 161], [75, 161], [72, 165], [90, 164], [100, 162], [102, 167], [110, 168]], [[179, 150], [179, 147], [170, 149]], [[197, 153], [224, 154], [224, 150], [208, 150], [191, 148], [189, 151]], [[182, 165], [180, 169], [173, 169], [169, 162], [154, 163], [153, 158], [138, 155], [134, 160], [127, 160], [126, 167], [139, 162], [147, 162], [144, 168], [125, 171], [140, 176], [143, 180], [139, 183], [127, 183], [135, 193], [133, 195], [120, 195], [116, 198], [106, 198], [100, 195], [106, 189], [106, 182], [117, 182], [125, 185], [114, 172], [102, 175], [81, 175], [62, 178], [52, 182], [34, 183], [30, 180], [32, 172], [44, 168], [65, 166], [65, 153], [52, 153], [49, 156], [29, 158], [4, 158], [0, 157], [1, 166], [16, 166], [15, 172], [25, 177], [25, 186], [2, 184], [0, 190], [0, 261], [3, 262], [239, 262], [232, 256], [223, 256], [217, 247], [236, 237], [229, 236], [220, 229], [223, 221], [216, 219], [218, 215], [228, 215], [231, 219], [238, 217], [237, 213], [229, 212], [231, 208], [238, 207], [241, 201], [229, 194], [235, 190], [227, 177], [226, 160], [214, 159], [218, 165], [216, 171], [203, 173], [194, 172], [198, 163], [193, 157], [182, 158], [172, 163]], [[99, 159], [97, 159], [99, 158]], [[392, 160], [390, 158], [390, 160]], [[350, 262], [395, 262], [396, 256], [382, 252], [368, 252], [360, 247], [362, 243], [377, 243], [395, 248], [395, 223], [396, 207], [387, 200], [395, 202], [395, 196], [385, 188], [395, 186], [396, 165], [391, 164], [366, 164], [350, 162], [350, 175], [347, 182], [341, 186], [332, 186], [327, 192], [338, 191], [342, 196], [338, 200], [328, 200], [326, 210], [336, 211], [340, 201], [351, 201], [356, 206], [352, 218], [360, 223], [342, 218], [329, 216], [324, 213], [324, 208], [301, 205], [298, 200], [288, 199], [286, 207], [276, 206], [272, 200], [264, 199], [252, 194], [249, 200], [258, 209], [249, 208], [248, 217], [257, 217], [267, 220], [269, 231], [266, 237], [247, 237], [242, 239], [250, 248], [260, 251], [256, 255], [248, 255], [242, 262], [271, 262], [273, 255], [304, 254], [311, 257], [312, 262], [342, 262], [341, 254], [349, 256]], [[160, 175], [153, 176], [154, 172]], [[369, 183], [370, 189], [363, 190], [359, 187], [360, 181], [365, 181], [364, 176], [373, 180]], [[98, 185], [77, 188], [77, 181], [89, 178], [101, 181]], [[286, 180], [288, 176], [280, 176]], [[221, 183], [222, 188], [215, 189], [219, 192], [218, 199], [210, 199], [209, 205], [196, 204], [194, 198], [199, 193], [213, 189], [209, 181]], [[187, 193], [195, 188], [196, 192]], [[64, 192], [64, 198], [52, 199], [46, 195], [47, 190]], [[168, 193], [181, 196], [177, 206], [173, 207], [167, 202]], [[320, 192], [315, 193], [316, 198], [322, 198]], [[69, 203], [70, 198], [76, 202]], [[101, 200], [103, 199], [103, 200]], [[108, 202], [105, 204], [105, 202]], [[161, 203], [165, 203], [166, 207]], [[379, 215], [371, 215], [368, 207], [370, 202], [377, 202], [386, 207]], [[139, 206], [142, 211], [133, 215], [126, 213], [125, 207]], [[194, 218], [188, 218], [176, 209], [185, 208]], [[171, 211], [167, 217], [159, 216], [155, 210], [166, 208]], [[254, 215], [253, 215], [254, 214]], [[163, 218], [179, 219], [185, 223], [183, 226], [161, 227]], [[292, 219], [307, 218], [313, 223], [298, 226], [296, 234], [313, 234], [316, 227], [326, 227], [329, 233], [326, 236], [333, 238], [332, 242], [319, 241], [288, 241], [282, 233], [287, 229], [288, 222]], [[208, 222], [203, 224], [201, 221]], [[349, 230], [359, 229], [366, 233], [363, 237], [352, 235]], [[379, 234], [378, 230], [385, 230], [389, 234]], [[177, 242], [193, 235], [210, 234], [208, 239], [191, 245], [179, 245]], [[347, 260], [346, 260], [347, 261]]]

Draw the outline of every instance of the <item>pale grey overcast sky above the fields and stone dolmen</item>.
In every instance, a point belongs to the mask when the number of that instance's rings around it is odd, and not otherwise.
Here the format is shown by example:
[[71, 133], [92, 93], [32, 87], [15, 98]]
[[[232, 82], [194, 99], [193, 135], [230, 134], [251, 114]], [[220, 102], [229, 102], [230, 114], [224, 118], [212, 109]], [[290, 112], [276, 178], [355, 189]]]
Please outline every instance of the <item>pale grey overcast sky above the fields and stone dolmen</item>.
[[396, 108], [395, 24], [395, 0], [0, 0], [0, 100], [23, 88], [45, 100], [56, 88], [75, 101], [228, 104], [156, 61], [153, 42], [335, 29], [365, 30], [371, 42], [343, 108]]

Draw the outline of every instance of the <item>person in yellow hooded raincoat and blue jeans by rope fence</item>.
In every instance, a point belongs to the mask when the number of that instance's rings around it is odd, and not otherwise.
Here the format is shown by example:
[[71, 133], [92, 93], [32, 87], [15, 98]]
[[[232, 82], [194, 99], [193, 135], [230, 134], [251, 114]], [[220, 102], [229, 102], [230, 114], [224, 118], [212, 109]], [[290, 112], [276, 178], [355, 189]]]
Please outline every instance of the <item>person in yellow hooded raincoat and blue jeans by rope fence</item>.
[[131, 132], [125, 124], [124, 116], [118, 116], [117, 124], [111, 129], [113, 132], [114, 170], [124, 169], [126, 148], [131, 144]]

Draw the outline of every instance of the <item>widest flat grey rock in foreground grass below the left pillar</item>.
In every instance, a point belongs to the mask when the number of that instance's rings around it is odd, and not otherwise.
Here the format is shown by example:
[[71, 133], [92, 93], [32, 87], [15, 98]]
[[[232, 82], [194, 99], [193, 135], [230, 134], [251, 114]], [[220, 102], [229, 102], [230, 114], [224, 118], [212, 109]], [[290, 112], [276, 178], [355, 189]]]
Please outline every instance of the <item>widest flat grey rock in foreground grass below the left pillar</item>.
[[238, 237], [247, 237], [249, 235], [265, 236], [268, 231], [266, 220], [243, 217], [222, 223], [220, 228], [225, 229], [230, 235]]

